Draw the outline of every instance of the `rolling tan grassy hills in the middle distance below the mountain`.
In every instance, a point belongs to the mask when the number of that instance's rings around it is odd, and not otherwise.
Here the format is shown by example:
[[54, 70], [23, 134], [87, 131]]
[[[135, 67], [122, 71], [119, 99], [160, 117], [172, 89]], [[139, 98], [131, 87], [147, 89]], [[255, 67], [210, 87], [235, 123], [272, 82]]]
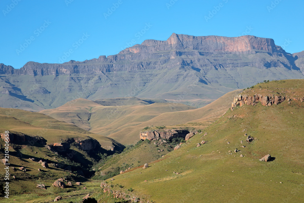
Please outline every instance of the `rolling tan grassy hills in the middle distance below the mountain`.
[[[233, 97], [241, 91], [227, 93], [199, 109], [180, 103], [102, 106], [90, 100], [78, 99], [55, 109], [40, 111], [40, 113], [129, 145], [139, 141], [140, 131], [147, 126], [213, 122], [227, 111]], [[122, 99], [119, 98], [119, 100]], [[138, 100], [133, 98], [128, 104], [132, 104], [131, 101], [137, 103]]]

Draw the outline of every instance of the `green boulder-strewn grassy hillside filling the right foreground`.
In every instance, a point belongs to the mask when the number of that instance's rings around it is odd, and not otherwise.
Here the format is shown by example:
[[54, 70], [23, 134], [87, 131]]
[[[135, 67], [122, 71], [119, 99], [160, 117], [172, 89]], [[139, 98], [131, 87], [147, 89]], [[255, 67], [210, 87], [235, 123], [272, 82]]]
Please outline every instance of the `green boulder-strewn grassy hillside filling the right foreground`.
[[[118, 175], [111, 184], [132, 187], [134, 194], [153, 202], [302, 202], [304, 103], [293, 98], [304, 96], [304, 81], [261, 83], [242, 94], [286, 100], [228, 110], [163, 160]], [[246, 142], [245, 133], [254, 141]], [[196, 147], [202, 140], [207, 143]], [[236, 148], [240, 151], [234, 153]], [[259, 161], [267, 154], [273, 157], [270, 162]]]

